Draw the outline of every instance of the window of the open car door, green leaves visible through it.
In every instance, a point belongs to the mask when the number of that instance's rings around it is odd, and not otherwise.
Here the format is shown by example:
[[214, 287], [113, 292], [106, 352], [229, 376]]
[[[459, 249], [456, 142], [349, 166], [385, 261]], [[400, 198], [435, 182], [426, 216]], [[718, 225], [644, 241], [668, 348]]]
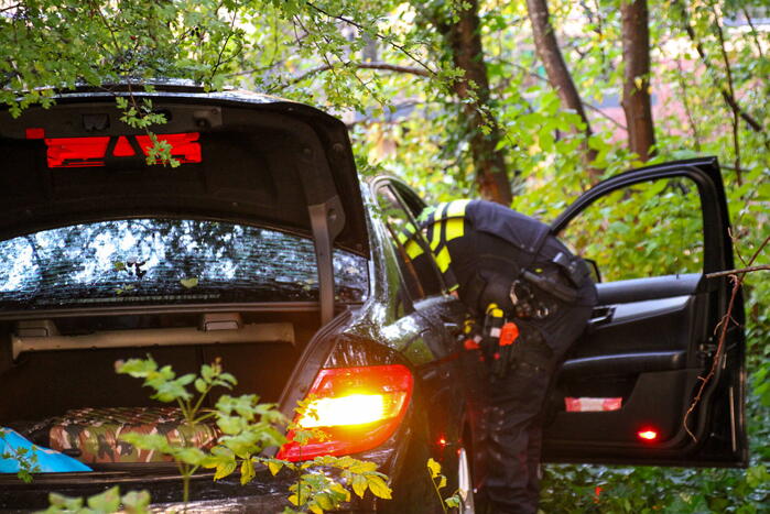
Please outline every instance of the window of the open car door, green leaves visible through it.
[[659, 178], [600, 197], [560, 234], [596, 261], [605, 282], [703, 272], [703, 217], [697, 185]]

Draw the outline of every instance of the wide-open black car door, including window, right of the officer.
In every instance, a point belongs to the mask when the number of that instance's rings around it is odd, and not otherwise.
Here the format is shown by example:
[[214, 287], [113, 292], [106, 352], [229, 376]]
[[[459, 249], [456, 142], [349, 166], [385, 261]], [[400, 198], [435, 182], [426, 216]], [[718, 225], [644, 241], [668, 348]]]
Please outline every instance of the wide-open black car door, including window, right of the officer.
[[746, 466], [740, 292], [716, 372], [691, 409], [731, 294], [728, 277], [705, 276], [734, 269], [716, 158], [611, 177], [551, 227], [603, 276], [551, 397], [544, 460]]

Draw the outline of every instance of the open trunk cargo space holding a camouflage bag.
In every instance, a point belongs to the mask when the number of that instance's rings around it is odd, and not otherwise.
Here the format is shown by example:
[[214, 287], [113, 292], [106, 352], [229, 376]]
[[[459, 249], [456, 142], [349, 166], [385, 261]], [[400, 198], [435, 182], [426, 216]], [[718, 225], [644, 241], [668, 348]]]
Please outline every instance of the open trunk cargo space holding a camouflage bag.
[[152, 400], [141, 380], [117, 374], [117, 361], [150, 353], [182, 375], [221, 360], [238, 384], [215, 390], [204, 406], [224, 393], [276, 402], [317, 328], [315, 309], [3, 321], [0, 391], [13, 394], [0, 402], [0, 426], [94, 471], [139, 471], [137, 464], [167, 459], [138, 451], [121, 434], [160, 433], [199, 447], [218, 434], [213, 424], [184, 426], [176, 404]]

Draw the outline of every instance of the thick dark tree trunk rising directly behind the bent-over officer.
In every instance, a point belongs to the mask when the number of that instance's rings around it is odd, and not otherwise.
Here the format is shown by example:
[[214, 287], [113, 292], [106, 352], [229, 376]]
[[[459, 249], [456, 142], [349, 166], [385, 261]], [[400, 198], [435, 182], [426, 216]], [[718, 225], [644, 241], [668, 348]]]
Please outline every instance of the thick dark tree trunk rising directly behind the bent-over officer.
[[[479, 32], [478, 2], [469, 0], [465, 3], [468, 8], [458, 12], [455, 20], [432, 21], [446, 39], [455, 66], [465, 72], [454, 81], [453, 88], [463, 100], [462, 109], [479, 193], [485, 199], [510, 206], [512, 195], [506, 160], [497, 147], [501, 139], [500, 129], [489, 103], [489, 78]], [[489, 128], [487, 133], [482, 125]]]

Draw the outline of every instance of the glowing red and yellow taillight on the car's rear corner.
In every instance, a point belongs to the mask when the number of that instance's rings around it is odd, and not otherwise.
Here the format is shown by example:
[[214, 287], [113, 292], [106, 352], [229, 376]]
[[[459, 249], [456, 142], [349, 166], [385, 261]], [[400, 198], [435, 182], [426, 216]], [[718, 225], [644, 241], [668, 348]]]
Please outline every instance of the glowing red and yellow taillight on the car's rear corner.
[[412, 373], [401, 364], [321, 370], [308, 393], [314, 398], [308, 412], [295, 422], [302, 428], [322, 430], [325, 437], [300, 446], [290, 431], [276, 457], [310, 460], [381, 445], [401, 423], [412, 386]]

